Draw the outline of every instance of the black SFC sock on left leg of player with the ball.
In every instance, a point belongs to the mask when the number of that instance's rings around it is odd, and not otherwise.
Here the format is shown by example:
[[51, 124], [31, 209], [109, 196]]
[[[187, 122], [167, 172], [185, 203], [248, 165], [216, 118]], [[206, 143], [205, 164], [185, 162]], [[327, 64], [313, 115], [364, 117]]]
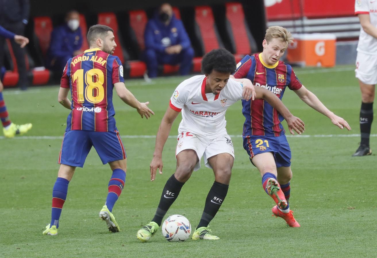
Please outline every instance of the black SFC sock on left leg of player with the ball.
[[184, 184], [185, 183], [179, 182], [175, 178], [174, 174], [166, 181], [155, 217], [152, 220], [153, 222], [156, 222], [159, 226], [161, 225], [162, 219], [164, 218], [167, 210], [173, 204], [175, 199], [177, 199], [178, 194]]

